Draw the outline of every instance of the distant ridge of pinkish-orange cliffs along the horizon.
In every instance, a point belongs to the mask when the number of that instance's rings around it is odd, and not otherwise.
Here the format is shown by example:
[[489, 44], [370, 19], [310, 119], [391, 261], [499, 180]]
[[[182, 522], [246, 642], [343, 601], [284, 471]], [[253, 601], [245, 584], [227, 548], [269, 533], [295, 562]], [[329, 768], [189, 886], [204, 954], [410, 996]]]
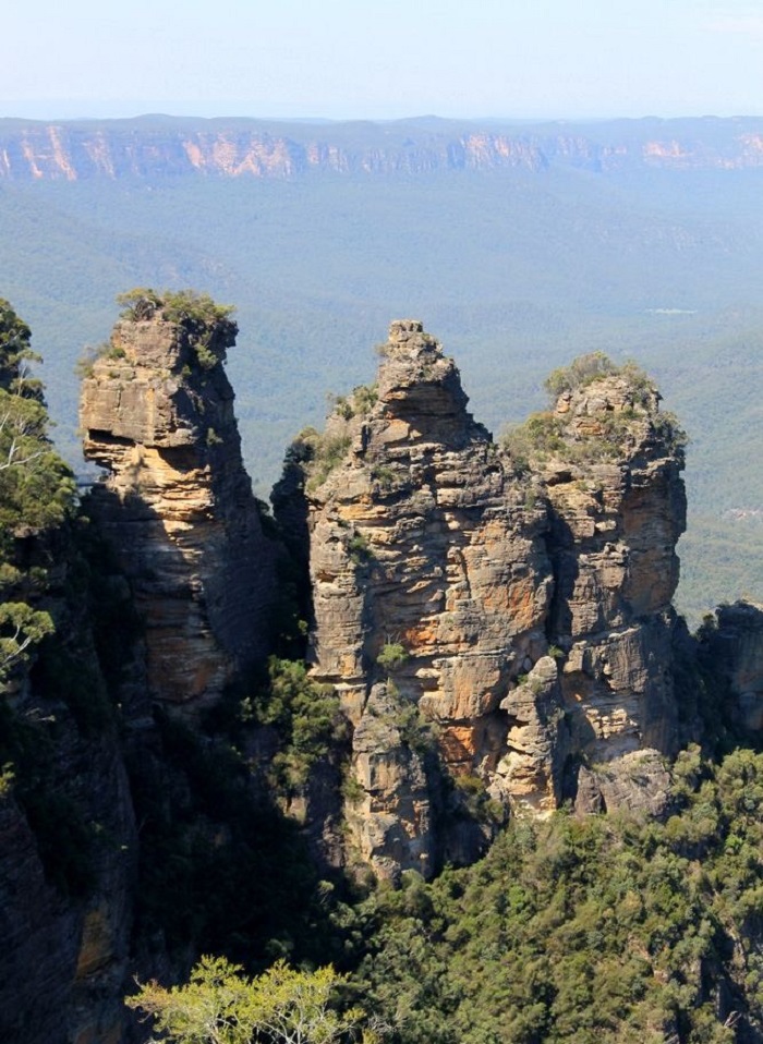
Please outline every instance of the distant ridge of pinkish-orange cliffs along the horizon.
[[536, 125], [434, 118], [389, 123], [244, 119], [0, 120], [0, 179], [294, 178], [308, 172], [763, 167], [763, 119], [706, 117]]

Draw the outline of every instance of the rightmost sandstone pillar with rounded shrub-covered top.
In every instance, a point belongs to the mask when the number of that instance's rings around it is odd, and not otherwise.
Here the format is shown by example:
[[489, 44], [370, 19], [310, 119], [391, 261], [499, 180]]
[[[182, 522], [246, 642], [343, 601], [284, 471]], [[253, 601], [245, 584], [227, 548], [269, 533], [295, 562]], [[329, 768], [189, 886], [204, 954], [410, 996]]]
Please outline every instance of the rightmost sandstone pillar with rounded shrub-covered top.
[[[610, 369], [530, 422], [529, 459], [550, 505], [547, 633], [564, 654], [564, 793], [581, 808], [651, 808], [667, 785], [659, 755], [678, 741], [671, 598], [686, 525], [682, 435], [644, 374]], [[626, 770], [631, 764], [639, 772]]]

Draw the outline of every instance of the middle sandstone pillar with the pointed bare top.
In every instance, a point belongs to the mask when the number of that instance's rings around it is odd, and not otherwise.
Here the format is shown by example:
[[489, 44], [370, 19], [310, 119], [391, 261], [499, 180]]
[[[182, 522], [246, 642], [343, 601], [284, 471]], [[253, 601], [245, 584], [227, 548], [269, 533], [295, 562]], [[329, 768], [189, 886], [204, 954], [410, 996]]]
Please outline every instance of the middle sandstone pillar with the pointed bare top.
[[314, 671], [355, 726], [365, 796], [350, 825], [387, 874], [428, 872], [448, 848], [411, 729], [421, 740], [428, 726], [448, 774], [504, 792], [501, 700], [546, 651], [550, 569], [544, 503], [467, 412], [452, 361], [412, 320], [383, 351], [377, 385], [304, 435], [292, 466], [308, 503]]

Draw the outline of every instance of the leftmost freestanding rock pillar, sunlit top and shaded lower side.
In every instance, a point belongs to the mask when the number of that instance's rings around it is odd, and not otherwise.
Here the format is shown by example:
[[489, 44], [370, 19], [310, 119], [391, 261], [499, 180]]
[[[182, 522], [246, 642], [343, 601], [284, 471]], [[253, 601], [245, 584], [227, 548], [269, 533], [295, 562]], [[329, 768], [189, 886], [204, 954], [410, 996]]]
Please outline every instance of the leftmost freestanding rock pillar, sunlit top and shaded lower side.
[[235, 332], [220, 316], [169, 319], [144, 303], [82, 389], [85, 457], [107, 470], [92, 513], [145, 624], [150, 695], [193, 709], [268, 644], [272, 547], [221, 365]]

